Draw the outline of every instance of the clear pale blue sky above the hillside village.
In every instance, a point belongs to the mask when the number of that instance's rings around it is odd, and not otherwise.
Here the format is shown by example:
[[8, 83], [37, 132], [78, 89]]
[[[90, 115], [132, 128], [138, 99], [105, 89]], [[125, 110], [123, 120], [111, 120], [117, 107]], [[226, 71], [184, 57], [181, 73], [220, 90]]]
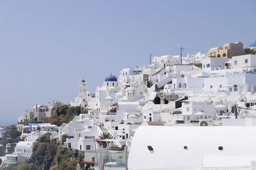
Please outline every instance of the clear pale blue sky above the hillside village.
[[[0, 124], [180, 46], [256, 39], [256, 1], [0, 0]], [[177, 54], [179, 52], [173, 52]], [[193, 53], [193, 52], [189, 52]]]

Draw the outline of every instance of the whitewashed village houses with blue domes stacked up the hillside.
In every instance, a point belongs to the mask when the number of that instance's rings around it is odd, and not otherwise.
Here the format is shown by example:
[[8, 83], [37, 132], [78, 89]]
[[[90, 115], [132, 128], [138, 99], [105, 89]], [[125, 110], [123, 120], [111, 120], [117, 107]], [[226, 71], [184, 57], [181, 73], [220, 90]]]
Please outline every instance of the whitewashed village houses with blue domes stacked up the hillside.
[[[255, 48], [254, 44], [250, 48]], [[113, 136], [109, 148], [124, 150], [140, 125], [238, 125], [237, 121], [245, 118], [255, 122], [255, 80], [256, 55], [245, 54], [241, 42], [182, 57], [182, 64], [180, 56], [156, 56], [148, 66], [106, 75], [95, 94], [90, 94], [86, 81], [81, 80], [79, 94], [69, 106], [81, 106], [88, 113], [58, 127], [52, 138], [67, 134], [65, 146], [92, 153], [85, 161], [97, 162], [95, 152], [106, 151], [96, 142], [103, 132]], [[61, 104], [36, 105], [22, 113], [19, 131], [26, 122], [51, 117]]]

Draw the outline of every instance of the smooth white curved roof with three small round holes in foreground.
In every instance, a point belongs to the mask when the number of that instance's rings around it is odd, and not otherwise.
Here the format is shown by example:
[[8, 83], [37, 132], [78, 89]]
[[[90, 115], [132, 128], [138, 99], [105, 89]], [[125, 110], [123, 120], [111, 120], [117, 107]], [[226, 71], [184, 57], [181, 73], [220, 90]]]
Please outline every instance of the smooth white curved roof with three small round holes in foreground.
[[[150, 152], [148, 146], [154, 150]], [[132, 139], [128, 168], [200, 169], [209, 155], [216, 166], [227, 166], [220, 161], [223, 157], [241, 157], [236, 164], [248, 164], [243, 162], [246, 157], [256, 159], [256, 127], [140, 126]]]

